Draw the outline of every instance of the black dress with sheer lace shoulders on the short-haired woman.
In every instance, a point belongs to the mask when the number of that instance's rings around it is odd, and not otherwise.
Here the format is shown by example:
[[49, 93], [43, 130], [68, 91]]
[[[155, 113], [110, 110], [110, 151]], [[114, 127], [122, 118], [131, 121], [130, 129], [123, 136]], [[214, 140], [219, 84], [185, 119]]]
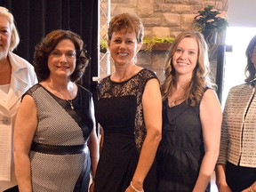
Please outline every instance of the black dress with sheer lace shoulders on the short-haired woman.
[[[98, 86], [96, 118], [104, 130], [104, 141], [95, 177], [96, 192], [123, 192], [130, 185], [146, 137], [142, 94], [152, 78], [156, 75], [144, 68], [122, 83], [112, 82], [108, 76]], [[144, 181], [144, 190], [156, 191], [155, 164]]]

